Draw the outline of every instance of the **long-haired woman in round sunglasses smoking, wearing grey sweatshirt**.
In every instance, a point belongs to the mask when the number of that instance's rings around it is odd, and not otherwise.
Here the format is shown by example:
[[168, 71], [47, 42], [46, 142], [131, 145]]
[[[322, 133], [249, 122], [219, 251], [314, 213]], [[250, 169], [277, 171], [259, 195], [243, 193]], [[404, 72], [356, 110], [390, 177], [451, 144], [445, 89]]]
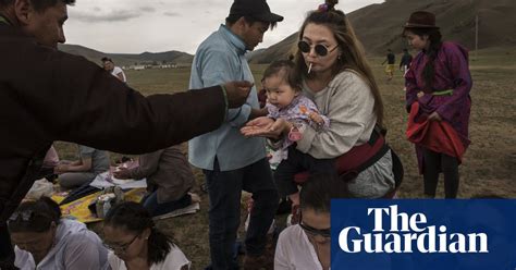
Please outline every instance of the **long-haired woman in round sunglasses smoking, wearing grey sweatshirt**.
[[[288, 157], [275, 173], [277, 182], [292, 183], [299, 169], [330, 168], [352, 164], [339, 173], [354, 172], [348, 182], [354, 197], [379, 198], [394, 189], [391, 150], [374, 148], [383, 135], [376, 125], [383, 120], [383, 103], [365, 52], [346, 15], [335, 10], [337, 1], [327, 1], [308, 14], [299, 30], [295, 54], [303, 94], [312, 99], [320, 113], [330, 120], [329, 128], [317, 131], [298, 125], [302, 138], [288, 149]], [[294, 123], [284, 119], [258, 118], [243, 128], [247, 136], [282, 139]], [[379, 138], [380, 139], [376, 139]], [[363, 150], [365, 149], [365, 150]], [[357, 154], [358, 152], [358, 154]], [[328, 170], [327, 170], [328, 171]], [[291, 192], [296, 193], [293, 186]]]

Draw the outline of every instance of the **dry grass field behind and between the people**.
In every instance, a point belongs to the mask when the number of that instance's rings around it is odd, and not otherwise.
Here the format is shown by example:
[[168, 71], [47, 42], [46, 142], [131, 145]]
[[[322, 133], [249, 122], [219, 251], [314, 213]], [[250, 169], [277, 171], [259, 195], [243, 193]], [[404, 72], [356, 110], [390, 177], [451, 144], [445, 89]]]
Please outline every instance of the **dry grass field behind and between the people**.
[[[382, 58], [370, 59], [384, 99], [385, 124], [389, 128], [388, 140], [400, 154], [405, 167], [405, 180], [398, 197], [420, 198], [422, 177], [417, 173], [414, 146], [405, 139], [404, 135], [407, 115], [404, 109], [403, 78], [398, 72], [393, 81], [386, 82], [383, 66], [380, 65], [382, 61]], [[478, 58], [470, 64], [474, 77], [470, 119], [472, 144], [459, 169], [459, 197], [495, 194], [515, 198], [516, 48], [479, 51]], [[251, 66], [258, 85], [265, 68], [265, 65]], [[128, 71], [126, 74], [132, 87], [145, 95], [151, 95], [186, 89], [189, 69]], [[67, 143], [58, 143], [57, 148], [61, 158], [71, 159], [75, 156], [75, 148]], [[116, 154], [111, 155], [112, 160], [118, 157]], [[200, 185], [202, 175], [199, 170], [194, 170]], [[193, 261], [193, 269], [204, 269], [209, 262], [208, 196], [200, 192], [199, 186], [196, 187], [196, 192], [202, 198], [200, 212], [160, 221], [158, 226], [174, 235], [177, 245]], [[438, 196], [443, 196], [442, 182]], [[100, 232], [99, 224], [93, 228]]]

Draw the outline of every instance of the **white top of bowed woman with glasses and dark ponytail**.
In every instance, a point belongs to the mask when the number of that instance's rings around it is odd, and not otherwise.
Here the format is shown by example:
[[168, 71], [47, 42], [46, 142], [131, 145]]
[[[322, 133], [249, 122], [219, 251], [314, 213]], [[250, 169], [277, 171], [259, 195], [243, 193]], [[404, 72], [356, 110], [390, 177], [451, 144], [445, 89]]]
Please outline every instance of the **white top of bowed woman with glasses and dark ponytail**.
[[[108, 261], [112, 270], [127, 270], [125, 262], [116, 257], [113, 251], [109, 253]], [[186, 256], [177, 246], [171, 246], [167, 258], [164, 258], [164, 260], [160, 263], [150, 266], [150, 270], [181, 270], [181, 268], [185, 265], [187, 265], [189, 269], [192, 262], [186, 258]]]

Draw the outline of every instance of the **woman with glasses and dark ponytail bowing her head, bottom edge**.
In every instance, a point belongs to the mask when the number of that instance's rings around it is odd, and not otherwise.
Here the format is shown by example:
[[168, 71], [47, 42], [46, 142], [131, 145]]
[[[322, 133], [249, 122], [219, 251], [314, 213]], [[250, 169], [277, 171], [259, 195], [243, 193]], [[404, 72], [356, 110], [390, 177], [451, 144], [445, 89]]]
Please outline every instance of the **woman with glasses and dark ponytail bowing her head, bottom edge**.
[[191, 261], [172, 240], [156, 229], [150, 213], [126, 201], [111, 208], [103, 221], [105, 245], [112, 270], [185, 270]]

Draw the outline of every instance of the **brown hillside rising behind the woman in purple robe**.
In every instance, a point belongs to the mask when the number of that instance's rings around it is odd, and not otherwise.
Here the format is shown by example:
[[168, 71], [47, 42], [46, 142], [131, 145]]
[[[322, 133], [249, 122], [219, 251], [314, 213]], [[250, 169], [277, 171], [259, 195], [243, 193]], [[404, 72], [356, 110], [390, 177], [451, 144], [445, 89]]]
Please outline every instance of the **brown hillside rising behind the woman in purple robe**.
[[[401, 52], [406, 41], [403, 25], [411, 12], [427, 10], [437, 14], [444, 40], [454, 40], [475, 49], [475, 24], [479, 17], [478, 48], [516, 46], [516, 1], [514, 0], [386, 0], [347, 14], [368, 54], [382, 56], [391, 48]], [[280, 26], [281, 27], [281, 24]], [[286, 58], [295, 48], [297, 33], [251, 58], [268, 63]]]

